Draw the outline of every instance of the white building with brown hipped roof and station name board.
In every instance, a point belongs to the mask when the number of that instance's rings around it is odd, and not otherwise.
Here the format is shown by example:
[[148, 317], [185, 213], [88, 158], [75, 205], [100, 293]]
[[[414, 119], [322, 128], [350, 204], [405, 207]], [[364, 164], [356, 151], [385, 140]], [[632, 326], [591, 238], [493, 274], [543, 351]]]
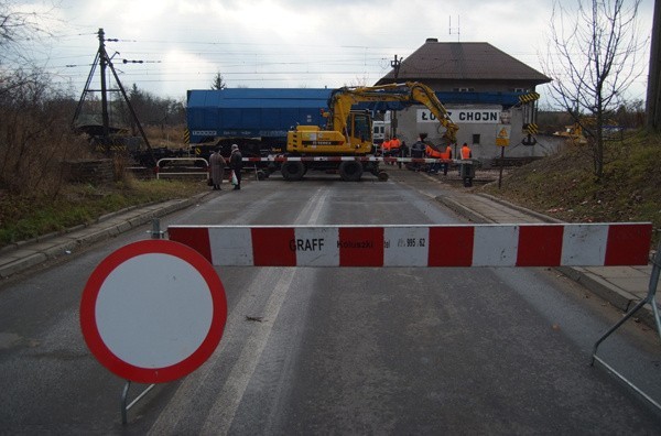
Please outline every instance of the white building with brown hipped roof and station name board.
[[[394, 81], [421, 81], [434, 89], [459, 126], [457, 142], [468, 143], [478, 159], [500, 155], [496, 138], [503, 124], [510, 135], [509, 155], [539, 153], [534, 146], [518, 146], [537, 144], [524, 130], [534, 121], [534, 103], [521, 105], [519, 97], [535, 92], [551, 79], [489, 43], [429, 39], [403, 58], [397, 76], [393, 68], [376, 85]], [[398, 137], [407, 143], [414, 142], [419, 133], [440, 141], [438, 124], [430, 120], [423, 106], [400, 110], [397, 119]]]

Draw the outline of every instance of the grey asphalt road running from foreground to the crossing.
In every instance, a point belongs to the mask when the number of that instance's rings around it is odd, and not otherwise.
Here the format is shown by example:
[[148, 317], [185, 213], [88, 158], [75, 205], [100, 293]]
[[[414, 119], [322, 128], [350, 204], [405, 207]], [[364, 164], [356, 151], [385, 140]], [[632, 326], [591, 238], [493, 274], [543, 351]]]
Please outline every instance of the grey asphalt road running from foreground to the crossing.
[[[447, 186], [393, 173], [273, 176], [162, 225], [462, 222], [434, 200]], [[1, 285], [0, 434], [661, 432], [657, 413], [588, 366], [619, 314], [554, 271], [485, 268], [218, 269], [229, 307], [218, 349], [152, 390], [124, 427], [123, 381], [87, 350], [78, 305], [94, 268], [148, 230]], [[661, 399], [653, 331], [627, 326], [602, 353]]]

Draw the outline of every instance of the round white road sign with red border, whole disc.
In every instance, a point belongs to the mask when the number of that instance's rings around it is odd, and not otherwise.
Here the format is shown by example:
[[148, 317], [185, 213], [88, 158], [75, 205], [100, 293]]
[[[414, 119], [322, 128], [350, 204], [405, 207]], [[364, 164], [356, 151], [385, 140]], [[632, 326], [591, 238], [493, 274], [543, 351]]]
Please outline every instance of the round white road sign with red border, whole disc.
[[225, 328], [225, 288], [195, 250], [167, 240], [122, 247], [91, 273], [80, 302], [87, 346], [133, 382], [180, 379], [214, 352]]

